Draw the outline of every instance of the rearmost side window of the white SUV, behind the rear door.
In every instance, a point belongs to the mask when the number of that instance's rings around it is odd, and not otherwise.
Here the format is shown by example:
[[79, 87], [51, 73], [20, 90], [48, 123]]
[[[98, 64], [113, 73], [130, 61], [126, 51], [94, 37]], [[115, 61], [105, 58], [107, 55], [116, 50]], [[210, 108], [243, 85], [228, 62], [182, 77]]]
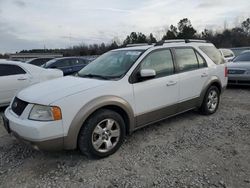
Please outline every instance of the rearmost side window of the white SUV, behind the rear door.
[[224, 58], [217, 48], [214, 46], [200, 46], [199, 47], [215, 64], [225, 63]]

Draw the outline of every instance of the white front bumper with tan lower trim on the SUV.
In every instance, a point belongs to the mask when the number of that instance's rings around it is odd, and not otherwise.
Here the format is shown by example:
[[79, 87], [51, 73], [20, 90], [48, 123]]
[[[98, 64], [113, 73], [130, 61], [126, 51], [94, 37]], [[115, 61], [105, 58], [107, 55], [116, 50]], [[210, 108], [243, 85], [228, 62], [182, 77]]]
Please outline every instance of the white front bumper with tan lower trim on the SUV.
[[5, 110], [3, 120], [8, 133], [35, 149], [48, 151], [63, 149], [62, 121], [41, 122], [21, 119], [10, 108]]

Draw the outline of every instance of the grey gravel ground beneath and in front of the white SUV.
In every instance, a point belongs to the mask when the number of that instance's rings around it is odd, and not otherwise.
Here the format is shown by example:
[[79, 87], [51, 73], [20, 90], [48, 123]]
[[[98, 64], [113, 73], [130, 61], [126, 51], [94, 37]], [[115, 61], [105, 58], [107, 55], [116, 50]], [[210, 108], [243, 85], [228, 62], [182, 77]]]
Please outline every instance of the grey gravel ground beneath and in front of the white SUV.
[[0, 187], [250, 187], [250, 88], [227, 89], [212, 116], [138, 130], [101, 160], [35, 151], [0, 124]]

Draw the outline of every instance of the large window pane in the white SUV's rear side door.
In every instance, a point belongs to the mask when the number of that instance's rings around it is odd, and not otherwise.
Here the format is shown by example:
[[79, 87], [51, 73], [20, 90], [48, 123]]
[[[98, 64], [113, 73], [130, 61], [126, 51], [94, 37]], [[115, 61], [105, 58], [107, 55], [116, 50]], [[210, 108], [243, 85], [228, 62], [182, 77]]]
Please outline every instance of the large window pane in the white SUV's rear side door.
[[181, 72], [198, 69], [199, 65], [193, 49], [177, 48], [175, 49], [175, 55]]

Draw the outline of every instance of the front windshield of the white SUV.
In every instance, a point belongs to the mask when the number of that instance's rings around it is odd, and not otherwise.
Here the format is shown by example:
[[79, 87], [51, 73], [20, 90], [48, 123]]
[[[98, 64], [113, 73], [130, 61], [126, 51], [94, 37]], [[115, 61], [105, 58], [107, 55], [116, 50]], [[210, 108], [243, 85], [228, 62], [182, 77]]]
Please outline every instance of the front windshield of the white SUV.
[[107, 52], [80, 70], [77, 76], [98, 79], [121, 78], [142, 53], [143, 50]]

